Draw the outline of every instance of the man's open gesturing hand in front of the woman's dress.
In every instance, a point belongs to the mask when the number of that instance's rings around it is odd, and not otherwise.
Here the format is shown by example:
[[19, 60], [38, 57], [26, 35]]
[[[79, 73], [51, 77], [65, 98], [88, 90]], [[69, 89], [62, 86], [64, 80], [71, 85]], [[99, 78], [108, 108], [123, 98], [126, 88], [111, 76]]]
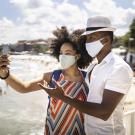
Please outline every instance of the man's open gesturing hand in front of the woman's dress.
[[62, 99], [65, 96], [63, 89], [55, 80], [53, 80], [53, 82], [55, 83], [55, 88], [49, 88], [46, 81], [44, 81], [44, 84], [38, 83], [38, 85], [51, 97]]

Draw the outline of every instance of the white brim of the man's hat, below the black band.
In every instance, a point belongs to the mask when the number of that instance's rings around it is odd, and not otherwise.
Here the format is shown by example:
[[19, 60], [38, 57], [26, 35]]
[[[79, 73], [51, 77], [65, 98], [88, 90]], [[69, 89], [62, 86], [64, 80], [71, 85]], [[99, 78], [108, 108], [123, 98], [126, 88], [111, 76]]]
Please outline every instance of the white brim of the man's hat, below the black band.
[[102, 29], [97, 29], [97, 30], [93, 30], [93, 31], [85, 31], [83, 34], [81, 34], [81, 36], [83, 35], [89, 35], [98, 31], [112, 31], [114, 32], [116, 30], [116, 28], [113, 27], [109, 27], [109, 28], [102, 28]]

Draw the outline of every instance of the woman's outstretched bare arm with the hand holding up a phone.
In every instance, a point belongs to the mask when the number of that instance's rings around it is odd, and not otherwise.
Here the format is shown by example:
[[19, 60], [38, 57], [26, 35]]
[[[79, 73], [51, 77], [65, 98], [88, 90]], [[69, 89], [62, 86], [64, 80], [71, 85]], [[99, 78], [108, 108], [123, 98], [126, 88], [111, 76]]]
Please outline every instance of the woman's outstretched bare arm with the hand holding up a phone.
[[9, 65], [8, 56], [0, 56], [0, 78], [4, 79], [8, 85], [10, 85], [14, 90], [18, 92], [27, 93], [40, 90], [41, 88], [39, 87], [39, 85], [37, 85], [37, 83], [43, 83], [43, 80], [46, 80], [49, 83], [51, 80], [52, 73], [49, 72], [43, 74], [42, 77], [40, 78], [37, 78], [30, 82], [24, 82], [15, 75], [10, 73], [8, 65]]

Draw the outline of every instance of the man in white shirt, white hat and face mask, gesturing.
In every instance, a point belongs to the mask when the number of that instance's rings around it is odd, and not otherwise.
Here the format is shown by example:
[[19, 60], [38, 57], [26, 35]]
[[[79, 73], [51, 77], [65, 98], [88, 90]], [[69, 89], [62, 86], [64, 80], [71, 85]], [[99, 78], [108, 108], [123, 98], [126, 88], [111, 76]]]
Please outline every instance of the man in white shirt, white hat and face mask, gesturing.
[[111, 52], [114, 28], [106, 17], [88, 19], [85, 47], [88, 54], [98, 63], [90, 64], [86, 76], [89, 87], [87, 102], [73, 99], [64, 94], [56, 83], [55, 90], [39, 84], [55, 98], [77, 108], [86, 114], [87, 135], [125, 135], [123, 105], [125, 95], [131, 86], [133, 72], [129, 65]]

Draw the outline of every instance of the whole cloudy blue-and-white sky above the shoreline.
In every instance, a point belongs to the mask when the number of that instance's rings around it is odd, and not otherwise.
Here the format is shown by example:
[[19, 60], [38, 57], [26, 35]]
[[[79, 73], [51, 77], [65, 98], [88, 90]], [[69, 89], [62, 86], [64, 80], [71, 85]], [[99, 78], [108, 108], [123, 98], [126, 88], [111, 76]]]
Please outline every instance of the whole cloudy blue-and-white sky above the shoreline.
[[0, 44], [47, 39], [61, 26], [85, 28], [89, 17], [100, 15], [122, 36], [135, 18], [135, 0], [0, 0]]

